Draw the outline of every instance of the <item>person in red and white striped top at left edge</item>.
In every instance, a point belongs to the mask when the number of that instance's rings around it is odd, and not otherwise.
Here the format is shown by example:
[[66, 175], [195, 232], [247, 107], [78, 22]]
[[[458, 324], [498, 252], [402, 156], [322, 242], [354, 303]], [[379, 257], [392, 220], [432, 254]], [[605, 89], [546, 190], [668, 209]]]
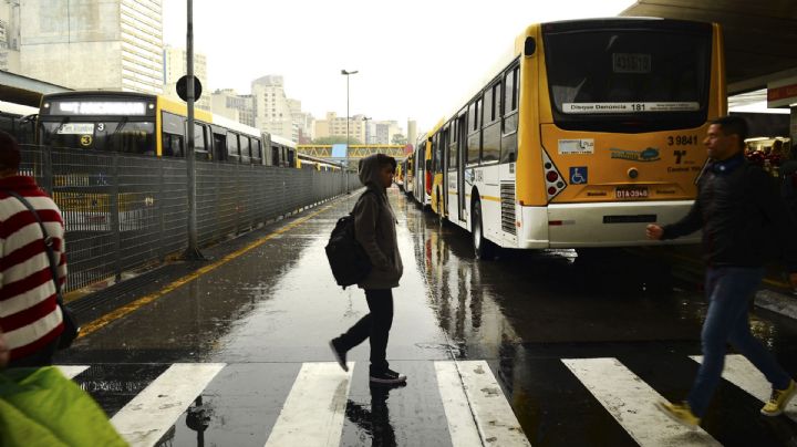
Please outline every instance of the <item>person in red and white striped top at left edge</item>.
[[37, 209], [53, 240], [58, 280], [66, 280], [64, 226], [55, 202], [33, 177], [19, 174], [20, 150], [14, 138], [0, 132], [0, 334], [10, 351], [9, 367], [52, 363], [63, 316], [55, 283], [35, 216], [9, 190]]

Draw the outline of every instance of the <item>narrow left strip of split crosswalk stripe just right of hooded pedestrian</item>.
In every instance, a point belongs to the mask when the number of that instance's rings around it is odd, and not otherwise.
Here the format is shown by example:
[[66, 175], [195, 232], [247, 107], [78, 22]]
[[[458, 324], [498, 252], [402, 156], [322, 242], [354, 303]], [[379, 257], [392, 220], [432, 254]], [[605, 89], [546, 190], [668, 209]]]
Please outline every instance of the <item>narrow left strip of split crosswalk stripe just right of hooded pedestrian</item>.
[[434, 364], [437, 372], [437, 388], [448, 422], [452, 445], [483, 447], [456, 364], [454, 362], [435, 362]]

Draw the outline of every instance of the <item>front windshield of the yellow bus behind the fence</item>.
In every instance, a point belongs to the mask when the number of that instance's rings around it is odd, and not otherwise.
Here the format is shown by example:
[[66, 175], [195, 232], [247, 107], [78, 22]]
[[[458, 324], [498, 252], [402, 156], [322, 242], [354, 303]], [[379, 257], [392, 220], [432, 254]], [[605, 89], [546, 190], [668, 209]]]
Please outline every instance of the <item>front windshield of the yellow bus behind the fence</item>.
[[41, 144], [52, 147], [155, 155], [152, 122], [128, 122], [120, 116], [96, 122], [42, 121], [40, 133]]

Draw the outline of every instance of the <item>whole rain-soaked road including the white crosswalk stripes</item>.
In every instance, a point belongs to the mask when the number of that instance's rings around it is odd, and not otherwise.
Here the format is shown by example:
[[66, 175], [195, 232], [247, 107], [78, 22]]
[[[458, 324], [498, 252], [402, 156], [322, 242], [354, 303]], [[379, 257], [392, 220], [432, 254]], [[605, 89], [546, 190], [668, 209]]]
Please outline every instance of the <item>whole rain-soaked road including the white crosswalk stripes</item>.
[[[142, 287], [142, 301], [56, 363], [81, 366], [75, 381], [136, 445], [797, 445], [797, 407], [759, 416], [766, 383], [738, 356], [704, 430], [653, 409], [689, 391], [705, 310], [666, 261], [559, 251], [477, 262], [467, 233], [390, 196], [405, 271], [387, 355], [405, 387], [369, 387], [368, 343], [350, 353], [351, 375], [329, 363], [328, 341], [366, 312], [323, 254], [355, 196], [248, 235], [203, 274]], [[756, 311], [754, 329], [797, 373], [797, 324]]]

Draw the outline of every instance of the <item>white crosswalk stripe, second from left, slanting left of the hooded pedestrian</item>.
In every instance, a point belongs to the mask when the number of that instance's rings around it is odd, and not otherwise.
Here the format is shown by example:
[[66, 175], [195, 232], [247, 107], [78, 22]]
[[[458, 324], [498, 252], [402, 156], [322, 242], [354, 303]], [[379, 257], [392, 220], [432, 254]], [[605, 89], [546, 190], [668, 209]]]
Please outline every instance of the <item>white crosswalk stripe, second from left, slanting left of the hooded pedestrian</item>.
[[154, 446], [224, 363], [175, 363], [111, 419], [131, 446]]

